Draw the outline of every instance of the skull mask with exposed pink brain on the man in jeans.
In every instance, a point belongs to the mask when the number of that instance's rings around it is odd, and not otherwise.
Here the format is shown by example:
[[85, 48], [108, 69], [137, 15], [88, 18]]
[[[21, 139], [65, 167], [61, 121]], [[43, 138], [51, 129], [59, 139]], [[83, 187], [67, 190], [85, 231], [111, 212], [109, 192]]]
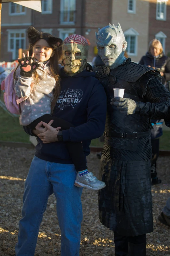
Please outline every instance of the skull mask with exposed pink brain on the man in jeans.
[[64, 40], [63, 63], [64, 71], [70, 76], [80, 73], [86, 68], [88, 42], [83, 36], [71, 35]]

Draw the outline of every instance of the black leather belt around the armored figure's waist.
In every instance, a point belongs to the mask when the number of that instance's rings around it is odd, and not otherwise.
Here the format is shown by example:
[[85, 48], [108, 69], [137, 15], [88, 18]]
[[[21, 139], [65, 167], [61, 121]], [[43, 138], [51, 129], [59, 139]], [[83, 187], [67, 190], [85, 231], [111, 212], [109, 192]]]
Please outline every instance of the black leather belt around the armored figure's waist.
[[116, 132], [107, 132], [104, 131], [104, 136], [105, 137], [112, 137], [112, 138], [123, 138], [123, 139], [130, 139], [130, 138], [140, 138], [140, 137], [145, 137], [145, 136], [149, 136], [151, 134], [151, 130], [150, 131], [144, 131], [144, 132], [133, 132], [133, 133], [116, 133]]

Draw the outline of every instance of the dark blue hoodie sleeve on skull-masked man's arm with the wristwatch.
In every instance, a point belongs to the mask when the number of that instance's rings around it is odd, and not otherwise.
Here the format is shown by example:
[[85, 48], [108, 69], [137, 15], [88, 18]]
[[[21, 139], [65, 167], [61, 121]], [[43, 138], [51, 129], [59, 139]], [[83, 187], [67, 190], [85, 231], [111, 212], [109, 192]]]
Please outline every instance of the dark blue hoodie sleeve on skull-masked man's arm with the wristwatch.
[[104, 132], [105, 122], [106, 94], [97, 81], [87, 103], [87, 123], [63, 130], [63, 140], [79, 142], [99, 138]]

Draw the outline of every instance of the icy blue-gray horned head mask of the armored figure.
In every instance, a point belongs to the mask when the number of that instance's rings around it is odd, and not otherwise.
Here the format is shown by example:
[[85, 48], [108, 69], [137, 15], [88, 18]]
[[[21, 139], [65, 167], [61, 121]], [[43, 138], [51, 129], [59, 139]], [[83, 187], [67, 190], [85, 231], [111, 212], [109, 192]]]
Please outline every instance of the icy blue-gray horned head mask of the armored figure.
[[102, 29], [99, 28], [96, 43], [99, 56], [110, 69], [116, 68], [126, 60], [124, 52], [127, 42], [119, 23], [118, 26], [109, 24]]

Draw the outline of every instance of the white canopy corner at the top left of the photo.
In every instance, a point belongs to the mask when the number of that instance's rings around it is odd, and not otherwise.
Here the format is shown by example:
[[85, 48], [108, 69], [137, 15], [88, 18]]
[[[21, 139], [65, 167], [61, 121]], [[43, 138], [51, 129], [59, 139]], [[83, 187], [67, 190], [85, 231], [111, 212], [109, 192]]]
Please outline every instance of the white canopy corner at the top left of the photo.
[[40, 0], [33, 0], [33, 1], [31, 1], [31, 0], [2, 0], [2, 3], [9, 3], [9, 2], [23, 5], [30, 9], [41, 12], [41, 1]]

